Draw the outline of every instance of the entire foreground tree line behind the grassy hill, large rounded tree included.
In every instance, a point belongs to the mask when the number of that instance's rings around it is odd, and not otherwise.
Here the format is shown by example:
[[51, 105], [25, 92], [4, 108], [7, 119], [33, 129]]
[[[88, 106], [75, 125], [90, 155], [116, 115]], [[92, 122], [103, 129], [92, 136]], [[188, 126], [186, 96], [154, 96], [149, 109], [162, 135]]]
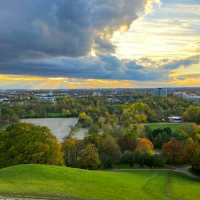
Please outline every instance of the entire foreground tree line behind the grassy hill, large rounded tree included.
[[83, 140], [69, 136], [60, 143], [46, 127], [16, 123], [0, 132], [0, 167], [37, 163], [94, 170], [120, 164], [163, 167], [168, 163], [190, 164], [200, 171], [199, 126], [194, 126], [187, 137], [169, 129], [153, 134], [145, 131], [90, 133]]

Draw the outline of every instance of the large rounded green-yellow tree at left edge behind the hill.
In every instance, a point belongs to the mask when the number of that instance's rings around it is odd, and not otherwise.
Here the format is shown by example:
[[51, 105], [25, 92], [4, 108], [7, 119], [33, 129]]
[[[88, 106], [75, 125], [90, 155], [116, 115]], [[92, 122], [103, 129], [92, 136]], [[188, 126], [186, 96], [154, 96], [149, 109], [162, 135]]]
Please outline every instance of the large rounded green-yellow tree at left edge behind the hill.
[[18, 123], [0, 133], [0, 167], [17, 164], [63, 164], [61, 145], [46, 127]]

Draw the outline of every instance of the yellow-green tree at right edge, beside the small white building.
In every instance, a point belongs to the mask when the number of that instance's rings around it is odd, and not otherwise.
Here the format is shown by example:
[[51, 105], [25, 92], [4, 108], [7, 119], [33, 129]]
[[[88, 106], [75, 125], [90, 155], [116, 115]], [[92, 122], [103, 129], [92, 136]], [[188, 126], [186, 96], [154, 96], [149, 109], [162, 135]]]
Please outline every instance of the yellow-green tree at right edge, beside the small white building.
[[195, 122], [200, 124], [200, 105], [191, 105], [183, 114], [183, 118], [187, 122]]

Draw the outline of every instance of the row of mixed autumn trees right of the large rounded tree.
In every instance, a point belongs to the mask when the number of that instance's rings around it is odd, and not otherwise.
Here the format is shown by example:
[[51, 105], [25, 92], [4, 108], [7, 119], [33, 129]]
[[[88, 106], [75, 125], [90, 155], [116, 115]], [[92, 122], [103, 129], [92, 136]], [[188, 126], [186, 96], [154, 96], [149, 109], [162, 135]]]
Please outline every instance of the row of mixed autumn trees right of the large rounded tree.
[[[66, 138], [64, 141], [66, 165], [97, 169], [111, 168], [119, 164], [128, 164], [130, 167], [188, 164], [194, 170], [200, 170], [199, 126], [194, 125], [187, 130], [187, 134], [186, 130], [177, 132], [170, 128], [155, 130], [143, 128], [141, 131], [138, 125], [133, 129], [131, 132], [119, 128], [120, 133], [104, 132], [104, 130], [99, 133], [91, 132], [82, 141]], [[83, 160], [87, 160], [84, 165], [81, 164]]]

